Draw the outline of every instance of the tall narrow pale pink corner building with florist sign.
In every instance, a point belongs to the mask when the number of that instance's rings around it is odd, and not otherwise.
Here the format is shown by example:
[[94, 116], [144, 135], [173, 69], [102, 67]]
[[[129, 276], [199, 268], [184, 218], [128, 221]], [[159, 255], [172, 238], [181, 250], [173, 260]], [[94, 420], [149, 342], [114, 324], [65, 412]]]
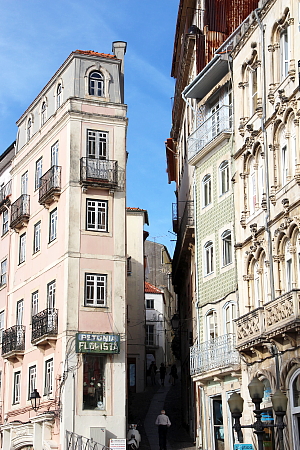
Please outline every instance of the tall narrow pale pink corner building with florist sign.
[[125, 51], [71, 53], [18, 120], [4, 161], [3, 449], [125, 436]]

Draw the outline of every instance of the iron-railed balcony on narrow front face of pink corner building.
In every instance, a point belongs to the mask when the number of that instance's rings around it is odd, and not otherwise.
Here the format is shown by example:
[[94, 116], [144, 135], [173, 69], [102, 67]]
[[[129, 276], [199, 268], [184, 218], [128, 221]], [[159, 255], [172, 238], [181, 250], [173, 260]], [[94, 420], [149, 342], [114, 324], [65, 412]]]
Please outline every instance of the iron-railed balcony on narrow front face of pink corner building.
[[125, 171], [118, 167], [118, 161], [81, 158], [80, 181], [84, 186], [123, 190]]

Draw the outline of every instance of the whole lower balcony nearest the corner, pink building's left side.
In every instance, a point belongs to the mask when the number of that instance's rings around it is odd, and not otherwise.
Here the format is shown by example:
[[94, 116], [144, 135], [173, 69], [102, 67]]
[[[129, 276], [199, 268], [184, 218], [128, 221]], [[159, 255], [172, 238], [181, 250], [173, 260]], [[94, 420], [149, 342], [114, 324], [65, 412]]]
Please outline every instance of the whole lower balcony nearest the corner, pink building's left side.
[[31, 342], [39, 347], [53, 347], [58, 331], [58, 310], [47, 308], [32, 317]]

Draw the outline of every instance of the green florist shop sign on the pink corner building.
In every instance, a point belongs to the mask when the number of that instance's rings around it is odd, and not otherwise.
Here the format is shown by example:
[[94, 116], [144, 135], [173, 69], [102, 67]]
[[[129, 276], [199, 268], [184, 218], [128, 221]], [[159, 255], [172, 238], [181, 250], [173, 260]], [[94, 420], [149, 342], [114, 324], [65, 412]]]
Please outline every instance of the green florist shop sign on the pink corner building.
[[120, 353], [119, 334], [76, 333], [77, 353]]

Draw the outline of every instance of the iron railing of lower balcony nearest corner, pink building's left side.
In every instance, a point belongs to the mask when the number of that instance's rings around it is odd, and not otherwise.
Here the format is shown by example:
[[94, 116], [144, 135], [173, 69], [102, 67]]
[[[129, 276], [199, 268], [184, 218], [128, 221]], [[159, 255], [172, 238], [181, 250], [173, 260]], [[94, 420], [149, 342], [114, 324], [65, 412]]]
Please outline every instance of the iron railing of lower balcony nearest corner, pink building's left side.
[[43, 337], [57, 336], [58, 330], [58, 310], [47, 308], [32, 316], [31, 342], [35, 342]]

